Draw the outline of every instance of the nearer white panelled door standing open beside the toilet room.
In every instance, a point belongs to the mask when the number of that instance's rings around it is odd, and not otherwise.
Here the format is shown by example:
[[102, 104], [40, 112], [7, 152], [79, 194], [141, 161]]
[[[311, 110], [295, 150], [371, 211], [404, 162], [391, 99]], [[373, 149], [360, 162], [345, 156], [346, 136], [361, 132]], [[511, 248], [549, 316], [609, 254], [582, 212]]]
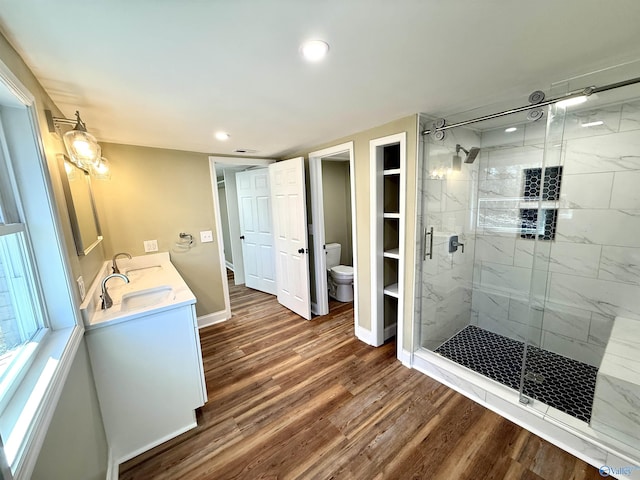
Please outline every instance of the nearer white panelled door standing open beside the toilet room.
[[269, 165], [278, 302], [311, 319], [304, 159]]

